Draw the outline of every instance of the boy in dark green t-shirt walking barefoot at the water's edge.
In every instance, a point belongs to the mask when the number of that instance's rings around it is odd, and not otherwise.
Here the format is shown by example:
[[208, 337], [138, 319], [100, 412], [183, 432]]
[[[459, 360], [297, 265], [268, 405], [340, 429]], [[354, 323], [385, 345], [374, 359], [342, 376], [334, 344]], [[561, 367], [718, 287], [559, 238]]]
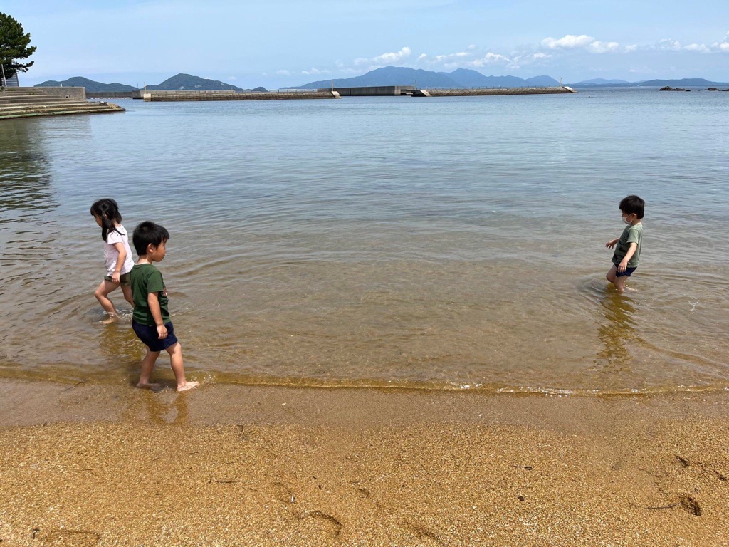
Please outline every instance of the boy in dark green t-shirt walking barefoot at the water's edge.
[[152, 265], [165, 257], [169, 238], [170, 233], [165, 228], [149, 220], [134, 228], [132, 236], [134, 249], [139, 255], [139, 260], [129, 273], [134, 300], [132, 328], [137, 338], [147, 346], [137, 387], [159, 387], [158, 384], [149, 383], [149, 376], [155, 368], [157, 357], [164, 349], [170, 354], [177, 391], [187, 391], [196, 387], [199, 382], [184, 379], [182, 346], [177, 341], [167, 310], [167, 289], [162, 274]]

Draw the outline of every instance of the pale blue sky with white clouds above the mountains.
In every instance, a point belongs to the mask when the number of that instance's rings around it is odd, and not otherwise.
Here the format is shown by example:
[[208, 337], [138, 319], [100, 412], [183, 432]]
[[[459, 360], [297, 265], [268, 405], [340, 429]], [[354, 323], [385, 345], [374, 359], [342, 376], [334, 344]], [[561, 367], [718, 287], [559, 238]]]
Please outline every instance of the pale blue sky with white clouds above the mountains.
[[0, 0], [0, 12], [38, 48], [20, 85], [184, 72], [276, 89], [389, 65], [729, 82], [727, 0]]

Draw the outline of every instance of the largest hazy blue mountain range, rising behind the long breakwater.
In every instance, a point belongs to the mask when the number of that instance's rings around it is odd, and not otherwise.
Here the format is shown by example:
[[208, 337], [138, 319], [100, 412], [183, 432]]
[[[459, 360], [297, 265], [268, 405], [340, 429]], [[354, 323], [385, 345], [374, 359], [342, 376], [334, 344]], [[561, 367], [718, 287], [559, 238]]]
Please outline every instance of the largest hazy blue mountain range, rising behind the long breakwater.
[[385, 66], [353, 78], [324, 79], [309, 82], [294, 89], [367, 88], [378, 85], [418, 85], [418, 88], [531, 88], [559, 85], [549, 76], [522, 79], [515, 76], [484, 76], [478, 71], [456, 69], [453, 72], [433, 72], [409, 69], [405, 66]]

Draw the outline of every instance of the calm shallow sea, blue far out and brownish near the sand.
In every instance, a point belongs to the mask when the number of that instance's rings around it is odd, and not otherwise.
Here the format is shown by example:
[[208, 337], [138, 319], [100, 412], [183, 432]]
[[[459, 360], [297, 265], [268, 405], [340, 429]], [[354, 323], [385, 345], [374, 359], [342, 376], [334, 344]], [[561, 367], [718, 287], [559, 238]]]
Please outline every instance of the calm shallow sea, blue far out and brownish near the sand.
[[[129, 306], [101, 325], [93, 297], [112, 197], [171, 232], [191, 379], [729, 385], [729, 93], [121, 104], [0, 123], [0, 377], [136, 378]], [[628, 193], [643, 254], [617, 295]]]

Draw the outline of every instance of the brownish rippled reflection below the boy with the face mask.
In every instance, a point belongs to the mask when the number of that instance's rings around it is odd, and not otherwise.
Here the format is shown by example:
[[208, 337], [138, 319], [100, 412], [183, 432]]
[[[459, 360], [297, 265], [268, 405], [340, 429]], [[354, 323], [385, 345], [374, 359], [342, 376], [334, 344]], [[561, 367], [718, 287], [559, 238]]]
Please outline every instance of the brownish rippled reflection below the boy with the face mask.
[[600, 303], [605, 320], [598, 336], [604, 347], [597, 354], [596, 368], [604, 373], [630, 371], [633, 361], [630, 347], [640, 341], [635, 306], [624, 294], [609, 289]]

